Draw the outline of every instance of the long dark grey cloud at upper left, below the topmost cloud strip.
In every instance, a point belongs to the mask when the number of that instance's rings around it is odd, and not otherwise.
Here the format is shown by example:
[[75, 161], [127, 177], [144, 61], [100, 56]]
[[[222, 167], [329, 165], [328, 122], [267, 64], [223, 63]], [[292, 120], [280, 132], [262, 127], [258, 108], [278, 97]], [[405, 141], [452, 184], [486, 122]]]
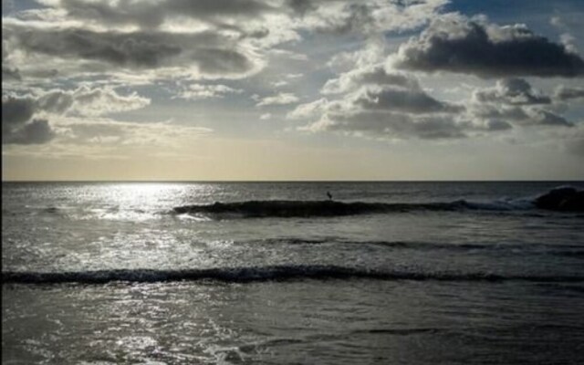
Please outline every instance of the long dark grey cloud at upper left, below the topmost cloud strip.
[[5, 26], [14, 47], [51, 57], [87, 59], [122, 68], [187, 67], [209, 74], [244, 73], [253, 62], [233, 39], [217, 33], [94, 32], [86, 29], [37, 29]]

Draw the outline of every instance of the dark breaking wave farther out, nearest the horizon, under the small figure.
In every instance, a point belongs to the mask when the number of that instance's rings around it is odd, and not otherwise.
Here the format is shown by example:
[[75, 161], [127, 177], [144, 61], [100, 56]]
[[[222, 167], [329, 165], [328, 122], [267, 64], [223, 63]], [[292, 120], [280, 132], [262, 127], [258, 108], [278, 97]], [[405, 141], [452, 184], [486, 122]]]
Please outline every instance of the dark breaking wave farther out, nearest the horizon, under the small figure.
[[244, 217], [311, 217], [354, 214], [406, 213], [416, 211], [489, 210], [508, 211], [533, 208], [531, 204], [470, 203], [344, 203], [337, 201], [266, 200], [235, 203], [184, 205], [173, 208], [175, 214], [236, 214]]

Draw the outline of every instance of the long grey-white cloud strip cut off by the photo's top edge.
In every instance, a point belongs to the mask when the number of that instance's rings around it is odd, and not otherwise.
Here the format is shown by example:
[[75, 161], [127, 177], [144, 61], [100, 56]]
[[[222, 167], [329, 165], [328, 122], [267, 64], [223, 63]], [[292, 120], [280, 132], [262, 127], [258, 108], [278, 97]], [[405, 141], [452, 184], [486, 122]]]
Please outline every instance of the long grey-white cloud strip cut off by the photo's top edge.
[[[109, 26], [161, 28], [184, 19], [253, 34], [255, 23], [293, 26], [319, 32], [371, 32], [423, 25], [447, 0], [159, 0], [149, 2], [58, 0], [47, 2], [68, 18]], [[284, 18], [283, 18], [284, 17]], [[268, 26], [270, 30], [276, 30]], [[266, 33], [266, 31], [264, 31]], [[269, 33], [269, 32], [267, 32]]]

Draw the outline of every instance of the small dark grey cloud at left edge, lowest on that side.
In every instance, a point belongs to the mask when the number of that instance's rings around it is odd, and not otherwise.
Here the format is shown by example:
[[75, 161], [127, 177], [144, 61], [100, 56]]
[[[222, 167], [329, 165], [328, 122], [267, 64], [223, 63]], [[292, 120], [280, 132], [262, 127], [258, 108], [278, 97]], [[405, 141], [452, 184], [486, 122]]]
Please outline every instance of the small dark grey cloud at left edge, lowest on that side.
[[32, 98], [2, 98], [2, 143], [38, 144], [55, 136], [47, 120], [31, 120], [36, 112]]

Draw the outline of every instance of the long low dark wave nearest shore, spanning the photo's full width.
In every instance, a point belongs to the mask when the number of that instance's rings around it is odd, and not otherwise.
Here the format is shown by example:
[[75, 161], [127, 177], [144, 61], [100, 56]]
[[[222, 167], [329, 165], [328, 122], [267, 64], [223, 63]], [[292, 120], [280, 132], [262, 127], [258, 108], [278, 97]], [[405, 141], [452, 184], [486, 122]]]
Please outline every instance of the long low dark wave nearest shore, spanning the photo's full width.
[[501, 282], [510, 280], [544, 283], [584, 282], [584, 276], [502, 276], [489, 273], [452, 272], [418, 273], [345, 266], [253, 266], [182, 270], [118, 269], [45, 273], [11, 271], [2, 273], [3, 284], [106, 284], [113, 281], [156, 283], [183, 280], [196, 281], [204, 279], [228, 283], [249, 283], [302, 279], [323, 280], [348, 278], [454, 282]]

